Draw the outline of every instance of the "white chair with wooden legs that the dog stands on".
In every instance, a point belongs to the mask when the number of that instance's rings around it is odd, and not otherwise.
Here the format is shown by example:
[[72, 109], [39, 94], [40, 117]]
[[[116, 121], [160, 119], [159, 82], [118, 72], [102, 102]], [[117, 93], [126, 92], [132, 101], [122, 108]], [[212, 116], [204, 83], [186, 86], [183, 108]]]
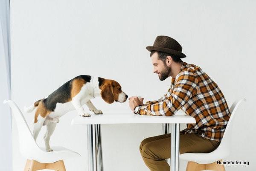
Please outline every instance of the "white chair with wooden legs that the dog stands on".
[[27, 159], [24, 171], [37, 171], [41, 169], [66, 171], [63, 162], [64, 159], [81, 157], [80, 154], [75, 151], [71, 151], [64, 147], [52, 147], [52, 152], [44, 151], [44, 148], [40, 148], [36, 144], [17, 104], [11, 100], [5, 100], [3, 103], [9, 104], [17, 123], [20, 152]]

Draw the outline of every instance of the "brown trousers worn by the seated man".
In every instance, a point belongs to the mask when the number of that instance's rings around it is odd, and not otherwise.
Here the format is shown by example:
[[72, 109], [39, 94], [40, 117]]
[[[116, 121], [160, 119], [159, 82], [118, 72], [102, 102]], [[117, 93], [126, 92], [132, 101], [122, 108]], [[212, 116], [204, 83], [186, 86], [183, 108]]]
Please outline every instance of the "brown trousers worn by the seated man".
[[[180, 133], [180, 154], [209, 153], [219, 144], [220, 142], [206, 139], [198, 133]], [[165, 159], [171, 157], [171, 134], [144, 139], [140, 144], [140, 154], [151, 171], [170, 171]]]

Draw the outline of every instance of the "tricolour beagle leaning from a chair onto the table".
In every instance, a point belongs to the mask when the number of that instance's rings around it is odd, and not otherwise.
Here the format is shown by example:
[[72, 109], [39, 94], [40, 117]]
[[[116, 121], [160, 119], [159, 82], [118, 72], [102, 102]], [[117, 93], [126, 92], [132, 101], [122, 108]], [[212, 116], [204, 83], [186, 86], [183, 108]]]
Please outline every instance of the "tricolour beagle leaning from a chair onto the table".
[[96, 109], [90, 99], [101, 96], [104, 101], [111, 104], [114, 101], [123, 103], [128, 96], [121, 90], [121, 86], [114, 80], [93, 77], [90, 75], [79, 75], [67, 81], [48, 97], [36, 101], [30, 107], [24, 107], [26, 113], [35, 111], [33, 136], [36, 140], [43, 125], [47, 126], [44, 141], [47, 151], [52, 151], [49, 145], [50, 136], [55, 130], [59, 117], [65, 113], [76, 110], [79, 116], [90, 116], [82, 107], [87, 105], [89, 110], [95, 114], [102, 114]]

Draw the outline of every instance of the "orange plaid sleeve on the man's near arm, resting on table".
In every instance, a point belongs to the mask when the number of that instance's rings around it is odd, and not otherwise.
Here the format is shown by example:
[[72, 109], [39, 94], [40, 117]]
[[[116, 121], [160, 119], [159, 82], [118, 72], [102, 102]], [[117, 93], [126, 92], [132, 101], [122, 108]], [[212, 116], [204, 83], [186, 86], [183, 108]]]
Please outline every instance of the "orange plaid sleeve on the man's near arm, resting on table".
[[172, 116], [198, 91], [198, 80], [189, 71], [181, 72], [175, 80], [172, 93], [167, 93], [163, 101], [146, 104], [137, 108], [140, 115]]

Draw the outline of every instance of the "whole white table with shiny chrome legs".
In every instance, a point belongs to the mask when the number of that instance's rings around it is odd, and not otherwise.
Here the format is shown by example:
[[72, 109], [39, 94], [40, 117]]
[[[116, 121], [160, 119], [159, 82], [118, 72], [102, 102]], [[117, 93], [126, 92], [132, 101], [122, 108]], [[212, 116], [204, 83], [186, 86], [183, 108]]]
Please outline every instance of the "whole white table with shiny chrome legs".
[[[171, 171], [179, 171], [180, 124], [195, 123], [195, 118], [179, 110], [174, 116], [145, 116], [132, 112], [105, 112], [102, 115], [91, 114], [90, 117], [76, 116], [72, 125], [87, 125], [88, 171], [103, 171], [101, 124], [152, 124], [162, 123], [171, 132]], [[168, 133], [167, 131], [165, 133]], [[163, 130], [162, 130], [163, 132]]]

